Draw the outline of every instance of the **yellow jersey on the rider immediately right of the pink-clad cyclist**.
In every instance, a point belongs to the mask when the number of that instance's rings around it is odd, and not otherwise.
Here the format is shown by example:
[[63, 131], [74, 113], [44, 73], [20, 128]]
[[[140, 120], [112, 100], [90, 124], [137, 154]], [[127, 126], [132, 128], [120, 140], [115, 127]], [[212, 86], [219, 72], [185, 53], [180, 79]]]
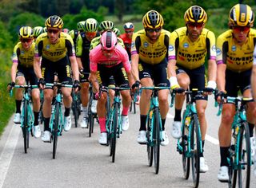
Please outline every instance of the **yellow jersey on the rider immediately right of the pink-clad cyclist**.
[[133, 34], [131, 42], [131, 55], [138, 54], [140, 61], [155, 65], [161, 63], [168, 57], [168, 49], [170, 44], [170, 32], [162, 29], [158, 41], [152, 43], [146, 36], [145, 29], [139, 30]]

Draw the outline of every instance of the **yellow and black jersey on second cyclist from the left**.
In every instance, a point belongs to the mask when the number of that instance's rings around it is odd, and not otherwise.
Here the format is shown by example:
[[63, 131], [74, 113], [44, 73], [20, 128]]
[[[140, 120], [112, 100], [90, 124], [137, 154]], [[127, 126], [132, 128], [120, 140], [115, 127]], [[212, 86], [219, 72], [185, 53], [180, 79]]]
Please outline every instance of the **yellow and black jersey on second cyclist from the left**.
[[46, 58], [49, 61], [59, 61], [62, 58], [74, 56], [74, 43], [67, 33], [60, 33], [56, 44], [50, 44], [47, 33], [42, 33], [36, 40], [35, 57]]

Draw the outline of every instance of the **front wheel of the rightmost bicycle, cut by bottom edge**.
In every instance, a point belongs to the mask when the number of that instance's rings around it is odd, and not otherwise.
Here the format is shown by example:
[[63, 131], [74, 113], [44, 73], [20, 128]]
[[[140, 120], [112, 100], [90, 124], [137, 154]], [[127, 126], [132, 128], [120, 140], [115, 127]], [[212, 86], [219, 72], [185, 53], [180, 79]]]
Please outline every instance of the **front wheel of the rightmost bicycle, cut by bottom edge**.
[[238, 140], [238, 187], [250, 187], [250, 132], [248, 123], [241, 123]]

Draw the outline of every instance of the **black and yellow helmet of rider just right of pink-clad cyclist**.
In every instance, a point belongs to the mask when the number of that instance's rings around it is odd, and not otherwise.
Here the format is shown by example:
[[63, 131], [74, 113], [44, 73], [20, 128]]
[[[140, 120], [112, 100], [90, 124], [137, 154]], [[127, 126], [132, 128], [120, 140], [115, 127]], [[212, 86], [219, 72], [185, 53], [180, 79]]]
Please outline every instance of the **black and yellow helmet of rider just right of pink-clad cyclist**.
[[163, 18], [162, 18], [162, 15], [159, 14], [157, 11], [150, 10], [144, 15], [142, 22], [143, 22], [144, 28], [154, 29], [154, 28], [162, 27]]

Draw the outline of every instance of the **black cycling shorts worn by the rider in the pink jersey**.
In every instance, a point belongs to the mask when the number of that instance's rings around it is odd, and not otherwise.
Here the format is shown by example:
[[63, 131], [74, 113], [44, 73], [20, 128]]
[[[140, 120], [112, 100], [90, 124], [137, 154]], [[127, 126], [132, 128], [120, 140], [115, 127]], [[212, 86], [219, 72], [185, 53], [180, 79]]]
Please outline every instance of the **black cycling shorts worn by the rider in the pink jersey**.
[[[114, 78], [114, 79], [113, 79]], [[126, 74], [126, 70], [122, 66], [122, 63], [106, 67], [105, 65], [98, 65], [97, 72], [98, 84], [108, 86], [110, 84], [116, 84], [118, 87], [129, 88], [129, 81]]]

